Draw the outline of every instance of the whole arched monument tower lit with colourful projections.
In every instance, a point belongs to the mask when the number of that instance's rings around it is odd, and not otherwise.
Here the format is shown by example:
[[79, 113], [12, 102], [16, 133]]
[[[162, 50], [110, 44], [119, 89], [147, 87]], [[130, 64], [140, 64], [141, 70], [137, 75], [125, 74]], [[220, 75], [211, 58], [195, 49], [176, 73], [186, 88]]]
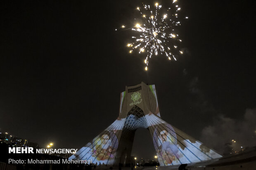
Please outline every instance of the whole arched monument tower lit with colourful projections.
[[161, 119], [155, 85], [126, 86], [118, 118], [69, 159], [107, 165], [129, 163], [137, 128], [151, 134], [161, 166], [195, 163], [222, 157], [212, 149]]

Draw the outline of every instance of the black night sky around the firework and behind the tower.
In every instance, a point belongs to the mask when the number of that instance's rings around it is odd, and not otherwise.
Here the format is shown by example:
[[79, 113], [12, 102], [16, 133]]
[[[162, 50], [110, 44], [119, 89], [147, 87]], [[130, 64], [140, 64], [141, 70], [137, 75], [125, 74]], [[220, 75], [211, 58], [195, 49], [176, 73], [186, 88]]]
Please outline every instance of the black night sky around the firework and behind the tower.
[[[1, 1], [0, 131], [80, 149], [117, 118], [125, 86], [145, 82], [156, 85], [162, 119], [206, 146], [255, 142], [255, 125], [248, 138], [217, 130], [215, 145], [207, 135], [226, 120], [233, 131], [256, 121], [256, 1], [178, 0], [189, 17], [178, 29], [184, 54], [158, 55], [147, 72], [145, 56], [128, 53], [131, 32], [115, 31], [134, 24], [141, 2]], [[155, 154], [146, 129], [132, 154]]]

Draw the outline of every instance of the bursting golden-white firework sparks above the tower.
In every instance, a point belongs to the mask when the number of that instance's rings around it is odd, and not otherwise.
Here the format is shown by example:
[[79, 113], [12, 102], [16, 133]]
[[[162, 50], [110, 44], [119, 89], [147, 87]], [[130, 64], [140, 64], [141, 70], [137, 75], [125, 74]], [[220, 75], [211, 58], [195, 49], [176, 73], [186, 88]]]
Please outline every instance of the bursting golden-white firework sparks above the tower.
[[[127, 44], [130, 48], [129, 52], [138, 51], [139, 53], [146, 52], [145, 70], [148, 70], [149, 59], [158, 54], [165, 55], [169, 60], [176, 60], [174, 53], [182, 51], [178, 50], [178, 42], [181, 42], [179, 35], [175, 34], [174, 28], [180, 26], [178, 20], [178, 12], [180, 7], [175, 4], [177, 0], [173, 0], [171, 8], [166, 11], [162, 10], [162, 5], [155, 3], [150, 5], [142, 4], [143, 7], [137, 7], [140, 16], [144, 20], [143, 23], [137, 23], [131, 30], [138, 33], [133, 36], [133, 42]], [[185, 17], [187, 19], [188, 17]], [[125, 28], [126, 26], [121, 26]]]

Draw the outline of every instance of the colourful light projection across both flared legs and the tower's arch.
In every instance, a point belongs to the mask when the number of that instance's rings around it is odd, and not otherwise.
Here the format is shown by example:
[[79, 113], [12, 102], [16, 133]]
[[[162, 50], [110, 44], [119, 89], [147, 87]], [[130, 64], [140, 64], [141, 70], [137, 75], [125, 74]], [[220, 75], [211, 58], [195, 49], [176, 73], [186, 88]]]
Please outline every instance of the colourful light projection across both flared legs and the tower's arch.
[[140, 112], [139, 116], [130, 114], [126, 119], [116, 120], [70, 158], [81, 160], [92, 158], [93, 163], [113, 164], [123, 127], [130, 130], [140, 127], [149, 128], [161, 166], [194, 163], [221, 157], [158, 116], [142, 115]]

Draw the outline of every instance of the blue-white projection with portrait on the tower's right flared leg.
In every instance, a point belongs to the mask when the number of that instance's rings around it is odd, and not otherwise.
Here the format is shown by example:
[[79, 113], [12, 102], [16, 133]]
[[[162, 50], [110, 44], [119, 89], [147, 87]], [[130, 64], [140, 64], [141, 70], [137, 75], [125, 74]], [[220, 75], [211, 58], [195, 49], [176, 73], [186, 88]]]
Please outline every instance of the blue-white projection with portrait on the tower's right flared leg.
[[220, 154], [154, 114], [145, 117], [149, 123], [149, 130], [161, 166], [194, 163], [221, 157]]

